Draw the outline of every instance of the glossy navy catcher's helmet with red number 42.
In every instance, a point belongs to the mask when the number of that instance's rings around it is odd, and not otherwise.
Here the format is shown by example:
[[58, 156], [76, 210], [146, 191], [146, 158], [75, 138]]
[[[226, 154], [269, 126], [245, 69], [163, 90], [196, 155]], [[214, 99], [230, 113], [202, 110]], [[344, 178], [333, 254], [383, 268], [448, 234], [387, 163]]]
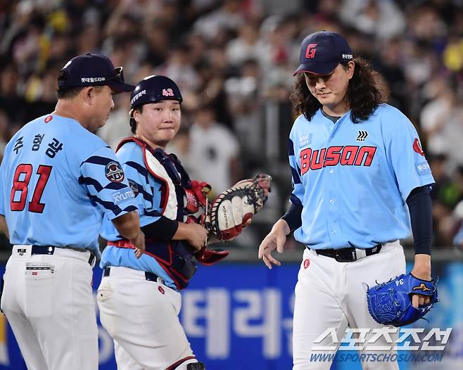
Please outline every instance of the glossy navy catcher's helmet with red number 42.
[[142, 79], [130, 96], [130, 109], [162, 100], [182, 102], [179, 87], [169, 77], [152, 75]]

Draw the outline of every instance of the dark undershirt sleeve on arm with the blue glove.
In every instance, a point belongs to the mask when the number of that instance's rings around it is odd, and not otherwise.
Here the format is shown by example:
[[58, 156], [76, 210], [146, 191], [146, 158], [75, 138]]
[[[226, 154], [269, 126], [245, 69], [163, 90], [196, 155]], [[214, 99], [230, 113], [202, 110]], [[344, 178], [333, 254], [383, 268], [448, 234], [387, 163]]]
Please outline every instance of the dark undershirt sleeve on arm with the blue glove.
[[415, 255], [431, 255], [433, 208], [431, 196], [429, 196], [430, 189], [429, 185], [419, 186], [413, 189], [407, 198]]

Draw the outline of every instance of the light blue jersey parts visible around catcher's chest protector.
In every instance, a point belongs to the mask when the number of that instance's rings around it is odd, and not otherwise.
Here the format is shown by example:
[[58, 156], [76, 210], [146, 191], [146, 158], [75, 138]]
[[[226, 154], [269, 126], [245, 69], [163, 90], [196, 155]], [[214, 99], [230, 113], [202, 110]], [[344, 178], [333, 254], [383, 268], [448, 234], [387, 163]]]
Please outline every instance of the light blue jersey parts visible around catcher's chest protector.
[[[161, 216], [161, 182], [146, 170], [141, 146], [134, 142], [125, 143], [116, 156], [134, 190], [140, 215], [140, 226], [144, 227], [157, 221]], [[108, 241], [122, 239], [113, 223], [108, 219], [103, 220], [101, 236]], [[156, 259], [148, 253], [144, 253], [137, 259], [131, 249], [108, 245], [103, 250], [100, 262], [102, 269], [107, 266], [129, 267], [139, 271], [152, 272], [160, 276], [166, 286], [177, 290], [174, 281], [160, 267]]]

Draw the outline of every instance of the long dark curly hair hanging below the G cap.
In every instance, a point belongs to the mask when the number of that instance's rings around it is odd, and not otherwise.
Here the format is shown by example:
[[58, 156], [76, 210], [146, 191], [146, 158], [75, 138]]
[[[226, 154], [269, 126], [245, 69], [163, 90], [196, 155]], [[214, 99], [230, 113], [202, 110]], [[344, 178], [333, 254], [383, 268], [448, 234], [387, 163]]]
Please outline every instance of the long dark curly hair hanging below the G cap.
[[[367, 120], [380, 103], [388, 100], [388, 91], [383, 79], [363, 58], [354, 58], [355, 70], [348, 84], [346, 98], [350, 107], [350, 118], [358, 123]], [[342, 64], [341, 64], [342, 65]], [[303, 114], [311, 120], [322, 106], [317, 98], [310, 93], [303, 73], [299, 73], [290, 95], [295, 116]]]

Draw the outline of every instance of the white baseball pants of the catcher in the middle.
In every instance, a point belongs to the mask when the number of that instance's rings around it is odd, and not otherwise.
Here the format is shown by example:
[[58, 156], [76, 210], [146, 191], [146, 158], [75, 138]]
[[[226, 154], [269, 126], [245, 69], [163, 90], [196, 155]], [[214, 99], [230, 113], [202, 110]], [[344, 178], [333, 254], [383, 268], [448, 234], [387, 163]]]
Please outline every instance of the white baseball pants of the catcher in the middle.
[[182, 295], [144, 272], [111, 267], [98, 289], [101, 324], [114, 340], [118, 370], [165, 370], [193, 356], [178, 314]]

